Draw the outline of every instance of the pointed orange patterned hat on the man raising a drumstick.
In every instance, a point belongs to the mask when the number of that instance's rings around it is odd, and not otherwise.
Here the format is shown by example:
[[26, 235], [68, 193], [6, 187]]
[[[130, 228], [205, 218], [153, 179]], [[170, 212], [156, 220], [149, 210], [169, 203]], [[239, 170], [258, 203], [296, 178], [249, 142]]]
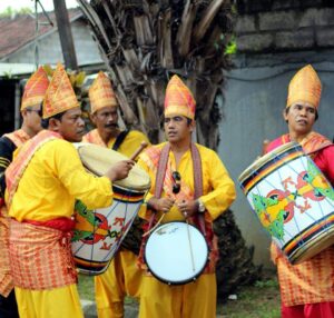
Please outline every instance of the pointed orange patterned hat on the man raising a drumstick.
[[79, 107], [71, 82], [61, 63], [57, 64], [43, 101], [43, 119]]

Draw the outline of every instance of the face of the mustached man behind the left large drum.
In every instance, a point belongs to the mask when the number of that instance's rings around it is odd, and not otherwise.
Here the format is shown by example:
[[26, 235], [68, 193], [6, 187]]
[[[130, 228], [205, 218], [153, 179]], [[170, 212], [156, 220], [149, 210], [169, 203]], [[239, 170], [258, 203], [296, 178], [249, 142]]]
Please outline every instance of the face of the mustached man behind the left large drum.
[[100, 132], [114, 135], [118, 131], [117, 107], [104, 107], [91, 115], [91, 120]]

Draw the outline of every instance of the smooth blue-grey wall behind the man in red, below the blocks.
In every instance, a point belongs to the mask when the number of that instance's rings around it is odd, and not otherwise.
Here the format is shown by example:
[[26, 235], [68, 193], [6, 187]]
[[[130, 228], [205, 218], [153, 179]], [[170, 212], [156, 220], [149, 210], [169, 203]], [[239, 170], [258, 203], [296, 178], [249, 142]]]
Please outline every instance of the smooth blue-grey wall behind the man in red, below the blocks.
[[[238, 56], [236, 68], [226, 73], [218, 152], [237, 182], [238, 176], [262, 152], [264, 139], [286, 133], [282, 117], [287, 86], [293, 74], [306, 63], [312, 63], [323, 85], [320, 119], [315, 130], [334, 137], [334, 51]], [[255, 246], [255, 262], [271, 267], [269, 236], [250, 210], [246, 197], [238, 188], [232, 209], [248, 246]]]

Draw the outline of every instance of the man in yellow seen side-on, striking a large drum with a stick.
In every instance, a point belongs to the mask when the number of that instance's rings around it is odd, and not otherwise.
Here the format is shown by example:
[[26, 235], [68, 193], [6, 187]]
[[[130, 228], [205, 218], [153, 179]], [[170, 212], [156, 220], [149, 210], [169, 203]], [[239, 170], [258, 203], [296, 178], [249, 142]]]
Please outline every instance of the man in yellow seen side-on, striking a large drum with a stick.
[[84, 317], [70, 249], [76, 199], [88, 209], [110, 206], [111, 182], [127, 177], [124, 160], [104, 177], [88, 173], [70, 142], [80, 141], [84, 120], [61, 64], [42, 106], [42, 130], [26, 142], [6, 171], [9, 255], [19, 315]]

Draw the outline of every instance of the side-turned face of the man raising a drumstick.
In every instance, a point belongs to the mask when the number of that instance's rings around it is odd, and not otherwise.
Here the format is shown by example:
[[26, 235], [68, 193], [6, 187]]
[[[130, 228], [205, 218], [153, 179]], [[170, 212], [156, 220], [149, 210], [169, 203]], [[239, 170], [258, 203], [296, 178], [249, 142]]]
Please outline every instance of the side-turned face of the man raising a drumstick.
[[56, 119], [57, 131], [70, 142], [79, 142], [85, 133], [85, 121], [79, 107], [67, 110], [61, 120]]

